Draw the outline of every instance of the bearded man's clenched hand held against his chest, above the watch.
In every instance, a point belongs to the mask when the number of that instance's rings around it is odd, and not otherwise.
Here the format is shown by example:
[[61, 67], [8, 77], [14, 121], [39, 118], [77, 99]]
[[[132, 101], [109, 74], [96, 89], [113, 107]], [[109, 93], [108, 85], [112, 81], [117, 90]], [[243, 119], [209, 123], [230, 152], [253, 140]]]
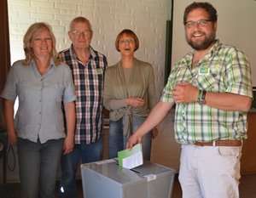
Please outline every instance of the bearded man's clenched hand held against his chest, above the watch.
[[176, 103], [191, 103], [197, 100], [198, 91], [189, 82], [181, 82], [173, 88], [172, 95]]

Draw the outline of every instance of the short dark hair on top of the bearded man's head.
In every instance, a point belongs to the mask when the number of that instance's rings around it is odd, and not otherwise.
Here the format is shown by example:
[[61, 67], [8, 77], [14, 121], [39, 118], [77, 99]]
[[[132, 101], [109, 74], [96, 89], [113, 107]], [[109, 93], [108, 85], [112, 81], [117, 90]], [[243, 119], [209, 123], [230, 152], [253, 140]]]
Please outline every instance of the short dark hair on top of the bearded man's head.
[[204, 10], [206, 10], [207, 13], [209, 14], [208, 20], [211, 20], [212, 22], [215, 22], [218, 20], [217, 10], [212, 6], [211, 3], [194, 2], [194, 3], [191, 3], [187, 8], [185, 8], [184, 15], [183, 15], [183, 24], [184, 25], [186, 25], [189, 13], [192, 10], [194, 10], [195, 8], [203, 8]]

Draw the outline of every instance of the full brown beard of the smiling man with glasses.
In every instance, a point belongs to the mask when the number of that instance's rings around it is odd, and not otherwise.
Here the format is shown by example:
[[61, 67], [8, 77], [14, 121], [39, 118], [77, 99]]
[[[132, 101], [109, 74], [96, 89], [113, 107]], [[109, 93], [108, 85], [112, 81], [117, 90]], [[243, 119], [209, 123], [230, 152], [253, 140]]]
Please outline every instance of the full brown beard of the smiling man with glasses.
[[[202, 33], [202, 32], [199, 32]], [[212, 31], [209, 35], [206, 35], [205, 39], [201, 42], [193, 42], [192, 39], [189, 39], [188, 35], [186, 34], [186, 40], [191, 48], [195, 50], [204, 50], [207, 49], [209, 46], [212, 45], [212, 42], [215, 42], [216, 32]]]

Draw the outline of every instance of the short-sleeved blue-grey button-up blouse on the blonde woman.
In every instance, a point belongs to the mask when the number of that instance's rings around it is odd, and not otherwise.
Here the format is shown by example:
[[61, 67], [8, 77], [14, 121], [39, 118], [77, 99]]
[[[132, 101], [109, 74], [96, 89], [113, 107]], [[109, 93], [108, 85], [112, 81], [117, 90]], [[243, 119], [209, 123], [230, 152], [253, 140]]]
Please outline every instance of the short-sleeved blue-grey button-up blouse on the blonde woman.
[[49, 69], [41, 76], [32, 61], [22, 65], [14, 63], [9, 71], [1, 96], [15, 101], [19, 107], [15, 115], [18, 137], [44, 144], [49, 139], [65, 138], [61, 102], [76, 99], [73, 77], [67, 65], [56, 66], [51, 59]]

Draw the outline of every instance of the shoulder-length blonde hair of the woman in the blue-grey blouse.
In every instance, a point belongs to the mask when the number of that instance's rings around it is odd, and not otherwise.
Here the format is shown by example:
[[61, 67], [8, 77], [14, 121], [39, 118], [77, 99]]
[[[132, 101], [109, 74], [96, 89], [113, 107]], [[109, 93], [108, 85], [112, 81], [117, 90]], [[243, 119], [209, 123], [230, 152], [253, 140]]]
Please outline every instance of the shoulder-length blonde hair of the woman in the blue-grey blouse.
[[50, 52], [50, 56], [54, 59], [55, 65], [60, 65], [61, 61], [58, 59], [58, 53], [56, 50], [56, 39], [55, 35], [53, 34], [53, 31], [51, 30], [50, 25], [48, 25], [45, 22], [39, 22], [32, 24], [28, 30], [26, 31], [26, 34], [23, 38], [23, 49], [25, 52], [25, 59], [23, 60], [24, 65], [29, 65], [33, 59], [33, 50], [31, 48], [31, 42], [32, 40], [37, 37], [38, 33], [40, 31], [47, 30], [49, 31], [49, 35], [52, 40], [52, 49]]

